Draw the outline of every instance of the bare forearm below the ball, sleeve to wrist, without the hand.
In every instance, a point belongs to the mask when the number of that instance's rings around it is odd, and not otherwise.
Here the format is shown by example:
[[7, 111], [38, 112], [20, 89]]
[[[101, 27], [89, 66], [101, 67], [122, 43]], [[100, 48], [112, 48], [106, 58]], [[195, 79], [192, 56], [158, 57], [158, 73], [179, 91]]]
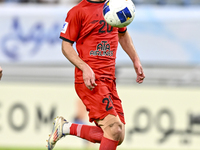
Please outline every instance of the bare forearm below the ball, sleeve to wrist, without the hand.
[[136, 49], [128, 32], [119, 35], [119, 43], [133, 63], [139, 60]]

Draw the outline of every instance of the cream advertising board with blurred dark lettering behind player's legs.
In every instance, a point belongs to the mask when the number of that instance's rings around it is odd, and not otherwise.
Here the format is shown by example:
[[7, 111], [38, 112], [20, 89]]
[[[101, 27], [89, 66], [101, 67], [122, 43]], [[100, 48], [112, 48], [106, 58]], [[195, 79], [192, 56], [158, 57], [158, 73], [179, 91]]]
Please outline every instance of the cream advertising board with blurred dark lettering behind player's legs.
[[[119, 85], [126, 119], [126, 137], [120, 148], [198, 150], [199, 91]], [[73, 84], [1, 83], [0, 146], [44, 147], [56, 116], [73, 122], [77, 100]], [[90, 124], [88, 119], [86, 123]], [[73, 136], [57, 144], [64, 148], [83, 146], [85, 141]]]

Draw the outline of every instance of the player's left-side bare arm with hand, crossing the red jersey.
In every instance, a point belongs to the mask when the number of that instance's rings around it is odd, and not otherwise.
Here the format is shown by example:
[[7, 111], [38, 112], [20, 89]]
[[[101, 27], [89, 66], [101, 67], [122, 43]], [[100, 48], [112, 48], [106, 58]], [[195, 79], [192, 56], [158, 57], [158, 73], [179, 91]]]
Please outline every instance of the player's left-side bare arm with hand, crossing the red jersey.
[[86, 87], [90, 90], [94, 89], [97, 85], [95, 83], [95, 74], [90, 66], [85, 63], [76, 53], [72, 46], [73, 44], [67, 41], [62, 41], [62, 52], [63, 55], [77, 68], [83, 72], [83, 80]]

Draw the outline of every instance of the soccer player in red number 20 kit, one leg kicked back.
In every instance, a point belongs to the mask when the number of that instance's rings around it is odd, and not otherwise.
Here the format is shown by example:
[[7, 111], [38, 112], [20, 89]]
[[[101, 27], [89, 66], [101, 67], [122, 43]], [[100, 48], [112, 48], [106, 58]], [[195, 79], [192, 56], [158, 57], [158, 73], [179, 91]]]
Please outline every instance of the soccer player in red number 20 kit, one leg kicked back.
[[[60, 33], [62, 52], [75, 66], [75, 89], [96, 126], [74, 124], [63, 117], [54, 121], [47, 140], [48, 150], [66, 136], [74, 135], [93, 143], [100, 150], [115, 150], [124, 140], [125, 119], [115, 83], [118, 42], [133, 62], [136, 81], [145, 75], [127, 28], [111, 27], [103, 18], [105, 0], [82, 0], [67, 14]], [[73, 43], [76, 42], [76, 49]]]

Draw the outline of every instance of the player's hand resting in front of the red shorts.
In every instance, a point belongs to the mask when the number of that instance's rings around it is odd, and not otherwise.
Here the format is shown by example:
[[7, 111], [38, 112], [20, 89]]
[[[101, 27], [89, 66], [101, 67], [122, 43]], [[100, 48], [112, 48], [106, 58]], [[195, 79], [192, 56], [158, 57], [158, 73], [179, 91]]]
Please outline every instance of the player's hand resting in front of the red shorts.
[[88, 65], [86, 65], [83, 69], [83, 80], [85, 86], [91, 91], [95, 88], [95, 86], [97, 86], [95, 83], [95, 74]]

